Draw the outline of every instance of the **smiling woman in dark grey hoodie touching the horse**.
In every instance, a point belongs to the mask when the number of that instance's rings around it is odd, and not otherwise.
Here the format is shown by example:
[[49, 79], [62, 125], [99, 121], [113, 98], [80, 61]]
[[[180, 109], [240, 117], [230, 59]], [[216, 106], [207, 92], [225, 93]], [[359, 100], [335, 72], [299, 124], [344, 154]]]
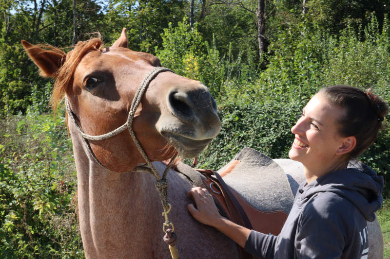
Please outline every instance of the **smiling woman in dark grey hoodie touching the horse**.
[[388, 106], [351, 86], [321, 89], [292, 127], [289, 156], [303, 164], [306, 182], [278, 236], [234, 224], [218, 213], [206, 189], [193, 188], [188, 210], [259, 258], [365, 258], [367, 221], [382, 205], [383, 177], [348, 168], [382, 128]]

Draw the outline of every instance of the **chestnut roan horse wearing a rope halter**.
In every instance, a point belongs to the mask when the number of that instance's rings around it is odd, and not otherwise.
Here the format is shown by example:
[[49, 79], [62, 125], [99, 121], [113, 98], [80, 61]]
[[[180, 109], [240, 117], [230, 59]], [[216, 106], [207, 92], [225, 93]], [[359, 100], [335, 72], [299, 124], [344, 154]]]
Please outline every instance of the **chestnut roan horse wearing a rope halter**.
[[[54, 108], [65, 98], [86, 258], [170, 258], [162, 241], [164, 207], [155, 189], [157, 180], [134, 169], [147, 163], [161, 175], [167, 167], [161, 161], [176, 154], [194, 157], [211, 142], [221, 123], [207, 87], [169, 69], [156, 70], [161, 66], [158, 58], [128, 49], [125, 28], [106, 48], [99, 38], [78, 42], [68, 53], [24, 40], [22, 45], [40, 74], [55, 78]], [[146, 92], [134, 107], [137, 86], [145, 80]], [[143, 155], [132, 134], [117, 131], [121, 125], [134, 131]], [[83, 137], [114, 131], [109, 138]], [[232, 240], [187, 211], [191, 181], [172, 169], [167, 181], [180, 258], [239, 258]]]

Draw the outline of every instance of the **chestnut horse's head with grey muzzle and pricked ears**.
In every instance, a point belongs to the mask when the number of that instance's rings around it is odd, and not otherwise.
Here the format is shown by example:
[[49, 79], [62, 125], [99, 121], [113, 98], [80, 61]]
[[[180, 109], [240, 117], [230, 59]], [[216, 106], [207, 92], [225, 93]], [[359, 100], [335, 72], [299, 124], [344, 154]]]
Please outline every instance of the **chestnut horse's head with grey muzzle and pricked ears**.
[[[68, 52], [22, 41], [29, 57], [46, 77], [54, 77], [52, 103], [66, 95], [78, 125], [89, 135], [102, 135], [126, 122], [133, 97], [144, 77], [160, 66], [155, 56], [127, 48], [126, 29], [111, 46], [99, 38], [78, 42]], [[206, 86], [171, 71], [158, 73], [138, 106], [133, 129], [152, 161], [176, 152], [198, 155], [221, 124]], [[89, 140], [91, 150], [107, 168], [127, 172], [144, 163], [128, 131], [112, 138]]]

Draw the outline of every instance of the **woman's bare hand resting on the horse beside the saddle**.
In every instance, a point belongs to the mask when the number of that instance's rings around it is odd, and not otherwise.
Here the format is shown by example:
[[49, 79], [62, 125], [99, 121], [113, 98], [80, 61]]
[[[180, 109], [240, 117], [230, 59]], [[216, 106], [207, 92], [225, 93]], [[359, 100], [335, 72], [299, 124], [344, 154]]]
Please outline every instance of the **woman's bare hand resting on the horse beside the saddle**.
[[187, 208], [197, 221], [214, 227], [221, 224], [224, 217], [219, 214], [213, 196], [207, 189], [194, 187], [187, 193], [187, 197], [192, 198], [195, 202], [196, 207], [190, 203]]

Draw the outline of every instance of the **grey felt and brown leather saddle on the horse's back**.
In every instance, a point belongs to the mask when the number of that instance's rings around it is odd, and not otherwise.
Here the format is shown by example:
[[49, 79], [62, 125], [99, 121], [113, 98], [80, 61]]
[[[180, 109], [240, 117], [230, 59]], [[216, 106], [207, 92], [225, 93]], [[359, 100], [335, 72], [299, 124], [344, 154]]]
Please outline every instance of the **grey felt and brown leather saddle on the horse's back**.
[[[226, 218], [258, 232], [278, 235], [293, 201], [286, 173], [271, 158], [248, 147], [233, 160], [240, 163], [224, 177], [213, 170], [193, 169], [183, 163], [176, 170], [195, 186], [206, 188]], [[242, 259], [254, 258], [243, 248], [239, 250]]]

